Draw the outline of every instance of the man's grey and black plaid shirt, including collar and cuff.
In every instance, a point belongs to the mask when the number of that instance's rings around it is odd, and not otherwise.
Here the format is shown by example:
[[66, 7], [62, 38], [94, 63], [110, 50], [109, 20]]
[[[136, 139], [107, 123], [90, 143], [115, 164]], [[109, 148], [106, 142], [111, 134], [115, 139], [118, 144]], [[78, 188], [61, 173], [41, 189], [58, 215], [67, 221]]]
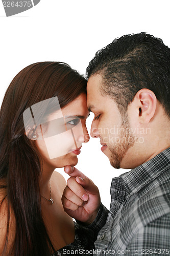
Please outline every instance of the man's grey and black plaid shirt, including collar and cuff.
[[94, 255], [170, 255], [170, 148], [113, 178], [110, 193], [88, 226]]

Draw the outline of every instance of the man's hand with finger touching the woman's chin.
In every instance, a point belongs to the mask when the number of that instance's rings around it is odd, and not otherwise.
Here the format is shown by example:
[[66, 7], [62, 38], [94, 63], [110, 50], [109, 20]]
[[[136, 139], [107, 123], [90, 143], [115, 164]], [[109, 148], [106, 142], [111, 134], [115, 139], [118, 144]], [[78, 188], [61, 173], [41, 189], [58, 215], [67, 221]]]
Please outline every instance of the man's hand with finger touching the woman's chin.
[[94, 221], [100, 207], [99, 189], [77, 168], [67, 165], [64, 171], [70, 176], [62, 196], [64, 211], [88, 225]]

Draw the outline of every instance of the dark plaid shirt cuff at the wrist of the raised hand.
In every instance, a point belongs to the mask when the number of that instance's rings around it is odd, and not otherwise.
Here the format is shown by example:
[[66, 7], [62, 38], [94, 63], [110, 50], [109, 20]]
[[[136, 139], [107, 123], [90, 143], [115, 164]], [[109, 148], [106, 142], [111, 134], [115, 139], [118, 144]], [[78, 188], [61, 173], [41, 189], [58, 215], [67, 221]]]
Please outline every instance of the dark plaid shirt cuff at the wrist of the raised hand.
[[[85, 228], [90, 229], [92, 231], [93, 242], [97, 239], [98, 233], [101, 230], [101, 228], [106, 224], [108, 212], [108, 209], [101, 203], [95, 220], [90, 225], [84, 226]], [[83, 227], [82, 222], [77, 221], [77, 224]]]

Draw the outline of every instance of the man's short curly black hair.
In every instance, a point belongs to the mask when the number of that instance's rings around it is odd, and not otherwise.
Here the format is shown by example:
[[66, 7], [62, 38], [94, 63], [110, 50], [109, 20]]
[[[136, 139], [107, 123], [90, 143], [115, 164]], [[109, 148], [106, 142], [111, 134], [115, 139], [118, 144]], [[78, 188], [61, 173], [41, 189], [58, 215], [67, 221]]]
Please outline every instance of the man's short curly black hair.
[[101, 74], [101, 93], [125, 112], [142, 88], [153, 91], [170, 117], [170, 49], [144, 32], [124, 35], [96, 52], [86, 76]]

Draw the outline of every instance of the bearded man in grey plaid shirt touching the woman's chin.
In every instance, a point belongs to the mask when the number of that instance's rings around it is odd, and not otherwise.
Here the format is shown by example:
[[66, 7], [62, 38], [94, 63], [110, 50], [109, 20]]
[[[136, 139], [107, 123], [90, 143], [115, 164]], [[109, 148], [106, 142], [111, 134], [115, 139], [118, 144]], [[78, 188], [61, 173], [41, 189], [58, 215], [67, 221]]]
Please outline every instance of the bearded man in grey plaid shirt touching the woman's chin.
[[98, 255], [169, 255], [170, 49], [149, 34], [125, 35], [86, 73], [91, 136], [113, 167], [132, 169], [112, 179], [108, 212], [92, 181], [66, 166], [64, 209], [93, 232]]

